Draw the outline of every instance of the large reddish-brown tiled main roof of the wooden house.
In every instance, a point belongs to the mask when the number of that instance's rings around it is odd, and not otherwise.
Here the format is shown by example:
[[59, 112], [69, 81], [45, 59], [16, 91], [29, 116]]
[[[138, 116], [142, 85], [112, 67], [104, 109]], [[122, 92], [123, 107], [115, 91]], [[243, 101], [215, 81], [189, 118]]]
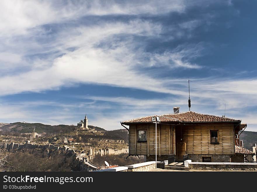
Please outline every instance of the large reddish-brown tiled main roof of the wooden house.
[[[154, 115], [158, 116], [158, 115]], [[240, 120], [230, 119], [227, 117], [220, 117], [215, 115], [208, 115], [197, 113], [193, 111], [188, 111], [184, 113], [177, 114], [164, 114], [159, 115], [161, 122], [239, 122]], [[137, 119], [131, 119], [128, 121], [123, 121], [122, 124], [126, 123], [147, 123], [152, 122], [152, 116], [140, 117]]]

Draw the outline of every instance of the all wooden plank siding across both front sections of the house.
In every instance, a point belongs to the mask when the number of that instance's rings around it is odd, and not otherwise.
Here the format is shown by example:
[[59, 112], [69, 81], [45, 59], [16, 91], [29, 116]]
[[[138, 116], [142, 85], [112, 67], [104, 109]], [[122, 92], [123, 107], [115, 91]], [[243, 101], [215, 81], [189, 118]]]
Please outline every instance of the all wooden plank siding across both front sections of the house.
[[[180, 126], [157, 124], [157, 155], [176, 154], [177, 143], [186, 143], [187, 154], [234, 154], [233, 125], [183, 125], [181, 128], [182, 141]], [[137, 141], [138, 130], [147, 131], [147, 142]], [[219, 130], [218, 144], [210, 143], [210, 130]], [[132, 124], [129, 134], [129, 155], [155, 155], [155, 124]]]

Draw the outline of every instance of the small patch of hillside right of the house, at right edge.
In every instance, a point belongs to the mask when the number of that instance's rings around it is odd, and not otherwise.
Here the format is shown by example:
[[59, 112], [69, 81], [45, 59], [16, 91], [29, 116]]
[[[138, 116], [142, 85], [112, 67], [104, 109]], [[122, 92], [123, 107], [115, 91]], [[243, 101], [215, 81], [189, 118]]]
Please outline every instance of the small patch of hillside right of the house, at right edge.
[[[239, 133], [240, 134], [240, 133]], [[243, 131], [239, 136], [240, 140], [244, 141], [244, 148], [252, 151], [255, 143], [257, 144], [257, 132], [255, 131]]]

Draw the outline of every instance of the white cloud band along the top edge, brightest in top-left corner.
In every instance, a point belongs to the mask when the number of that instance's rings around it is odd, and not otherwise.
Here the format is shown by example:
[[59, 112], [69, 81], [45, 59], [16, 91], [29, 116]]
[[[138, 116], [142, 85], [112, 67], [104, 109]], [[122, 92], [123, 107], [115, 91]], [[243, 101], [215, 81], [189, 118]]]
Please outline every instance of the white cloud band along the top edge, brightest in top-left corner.
[[27, 34], [40, 25], [75, 20], [83, 16], [182, 12], [184, 1], [1, 1], [0, 36]]

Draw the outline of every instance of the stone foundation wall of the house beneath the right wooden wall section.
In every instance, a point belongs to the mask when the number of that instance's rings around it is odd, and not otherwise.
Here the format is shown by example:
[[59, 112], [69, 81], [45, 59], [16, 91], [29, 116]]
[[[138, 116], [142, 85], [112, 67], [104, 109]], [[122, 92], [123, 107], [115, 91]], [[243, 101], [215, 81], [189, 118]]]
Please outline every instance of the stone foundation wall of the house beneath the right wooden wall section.
[[192, 162], [203, 162], [203, 157], [211, 157], [211, 162], [230, 162], [232, 155], [202, 155], [202, 154], [188, 154], [188, 159]]

